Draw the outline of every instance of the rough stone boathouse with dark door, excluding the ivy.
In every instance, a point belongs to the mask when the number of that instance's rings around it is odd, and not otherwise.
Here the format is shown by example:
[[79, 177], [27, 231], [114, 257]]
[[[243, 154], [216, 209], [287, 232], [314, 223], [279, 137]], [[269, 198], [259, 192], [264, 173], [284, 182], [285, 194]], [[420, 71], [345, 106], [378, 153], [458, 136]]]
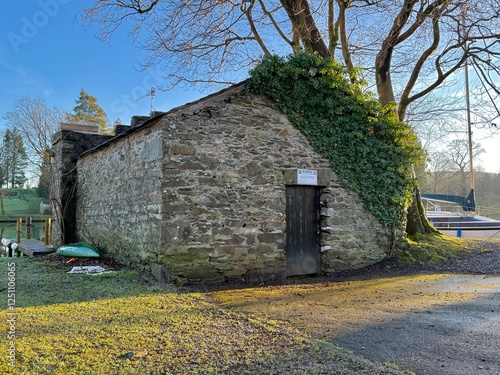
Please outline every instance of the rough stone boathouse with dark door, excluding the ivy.
[[[54, 136], [53, 238], [159, 280], [282, 280], [362, 268], [392, 236], [273, 103], [231, 86], [115, 136]], [[56, 246], [59, 244], [55, 244]]]

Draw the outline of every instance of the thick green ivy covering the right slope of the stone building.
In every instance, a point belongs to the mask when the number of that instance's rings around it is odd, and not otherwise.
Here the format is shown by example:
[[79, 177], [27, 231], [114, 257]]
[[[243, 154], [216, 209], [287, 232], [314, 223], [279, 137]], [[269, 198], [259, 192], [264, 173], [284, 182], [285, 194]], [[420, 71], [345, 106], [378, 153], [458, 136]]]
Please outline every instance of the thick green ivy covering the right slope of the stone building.
[[400, 227], [415, 183], [411, 168], [424, 152], [393, 106], [383, 108], [348, 78], [340, 63], [302, 53], [265, 58], [248, 87], [275, 101], [382, 224]]

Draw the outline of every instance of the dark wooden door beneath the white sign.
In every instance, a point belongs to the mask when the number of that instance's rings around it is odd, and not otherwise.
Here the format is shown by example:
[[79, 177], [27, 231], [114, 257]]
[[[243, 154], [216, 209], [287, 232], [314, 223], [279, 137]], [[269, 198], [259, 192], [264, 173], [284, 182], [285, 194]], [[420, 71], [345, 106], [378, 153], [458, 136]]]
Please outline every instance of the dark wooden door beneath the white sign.
[[319, 188], [286, 187], [287, 276], [320, 272]]

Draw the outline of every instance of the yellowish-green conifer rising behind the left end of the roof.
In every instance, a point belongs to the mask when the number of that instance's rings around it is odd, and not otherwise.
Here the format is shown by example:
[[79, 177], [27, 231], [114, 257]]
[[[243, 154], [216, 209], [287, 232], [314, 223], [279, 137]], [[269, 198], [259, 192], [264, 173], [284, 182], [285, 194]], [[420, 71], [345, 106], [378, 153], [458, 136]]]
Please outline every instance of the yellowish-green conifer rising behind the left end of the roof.
[[80, 89], [80, 96], [76, 100], [73, 112], [68, 116], [70, 121], [80, 124], [99, 125], [101, 134], [108, 132], [109, 121], [106, 112], [97, 104], [97, 99], [84, 89]]

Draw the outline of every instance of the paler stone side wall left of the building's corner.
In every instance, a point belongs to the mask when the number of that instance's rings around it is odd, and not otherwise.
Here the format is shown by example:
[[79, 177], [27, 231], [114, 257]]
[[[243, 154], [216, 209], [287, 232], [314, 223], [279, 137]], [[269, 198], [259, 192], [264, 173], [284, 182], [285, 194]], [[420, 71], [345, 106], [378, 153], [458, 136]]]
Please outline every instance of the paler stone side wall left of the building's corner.
[[162, 139], [146, 127], [78, 161], [78, 238], [148, 271], [163, 238]]

